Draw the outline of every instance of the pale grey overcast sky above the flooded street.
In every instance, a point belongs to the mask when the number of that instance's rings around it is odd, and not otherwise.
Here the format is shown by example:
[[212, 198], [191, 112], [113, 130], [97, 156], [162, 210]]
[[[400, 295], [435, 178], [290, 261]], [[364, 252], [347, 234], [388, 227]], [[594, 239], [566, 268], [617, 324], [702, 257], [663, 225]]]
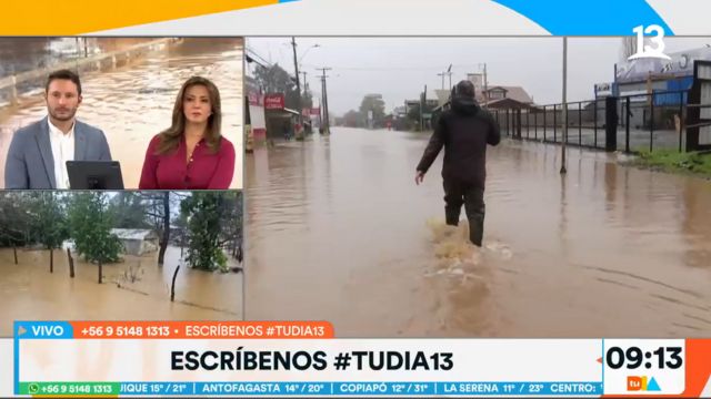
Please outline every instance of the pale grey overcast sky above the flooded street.
[[[267, 62], [293, 73], [291, 38], [249, 38], [247, 47]], [[703, 47], [711, 38], [664, 38], [665, 53]], [[441, 89], [452, 64], [452, 84], [487, 63], [489, 85], [520, 85], [538, 104], [562, 99], [562, 38], [297, 38], [300, 72], [320, 98], [320, 66], [327, 71], [329, 109], [340, 115], [357, 110], [363, 95], [380, 93], [385, 111], [418, 99], [427, 84]], [[319, 44], [318, 48], [313, 48]], [[594, 98], [594, 83], [613, 80], [620, 38], [568, 40], [568, 101]], [[303, 79], [303, 75], [301, 75]], [[449, 86], [449, 78], [444, 85]]]

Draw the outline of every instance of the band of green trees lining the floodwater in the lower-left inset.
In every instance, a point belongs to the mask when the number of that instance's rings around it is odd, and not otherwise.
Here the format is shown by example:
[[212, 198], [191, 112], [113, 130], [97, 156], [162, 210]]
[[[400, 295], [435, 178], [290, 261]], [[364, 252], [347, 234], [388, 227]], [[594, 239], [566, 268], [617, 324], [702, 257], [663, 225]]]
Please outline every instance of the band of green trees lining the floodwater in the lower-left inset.
[[242, 262], [242, 207], [238, 192], [0, 191], [0, 248], [16, 249], [16, 264], [17, 248], [47, 248], [53, 272], [53, 250], [70, 241], [101, 276], [124, 252], [113, 228], [149, 229], [160, 237], [158, 264], [174, 237], [188, 266], [227, 273], [229, 257]]

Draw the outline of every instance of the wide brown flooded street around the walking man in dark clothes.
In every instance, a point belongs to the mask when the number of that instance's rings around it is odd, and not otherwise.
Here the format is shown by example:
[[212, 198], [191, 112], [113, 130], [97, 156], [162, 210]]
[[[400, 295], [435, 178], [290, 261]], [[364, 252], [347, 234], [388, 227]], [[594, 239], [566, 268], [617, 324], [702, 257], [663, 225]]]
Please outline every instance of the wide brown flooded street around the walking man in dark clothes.
[[[246, 317], [339, 337], [711, 334], [711, 183], [612, 155], [489, 150], [484, 249], [443, 226], [428, 134], [337, 127], [249, 154]], [[463, 213], [462, 213], [463, 215]]]

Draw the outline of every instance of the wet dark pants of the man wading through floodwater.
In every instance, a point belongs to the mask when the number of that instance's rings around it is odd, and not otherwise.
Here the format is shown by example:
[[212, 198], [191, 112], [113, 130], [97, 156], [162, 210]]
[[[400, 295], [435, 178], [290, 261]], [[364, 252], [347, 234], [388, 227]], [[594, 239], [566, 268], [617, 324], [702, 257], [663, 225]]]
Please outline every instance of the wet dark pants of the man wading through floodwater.
[[447, 224], [457, 226], [462, 205], [469, 219], [469, 241], [481, 246], [484, 235], [484, 190], [455, 180], [444, 180], [444, 215]]

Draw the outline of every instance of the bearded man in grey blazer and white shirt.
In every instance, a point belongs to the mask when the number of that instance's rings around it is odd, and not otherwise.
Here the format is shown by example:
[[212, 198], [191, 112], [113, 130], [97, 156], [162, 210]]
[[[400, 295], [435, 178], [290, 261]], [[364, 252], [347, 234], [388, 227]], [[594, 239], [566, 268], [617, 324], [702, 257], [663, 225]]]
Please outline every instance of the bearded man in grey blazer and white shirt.
[[6, 188], [64, 190], [67, 161], [111, 161], [103, 132], [77, 121], [81, 104], [79, 75], [52, 72], [44, 86], [48, 116], [18, 130], [4, 166]]

